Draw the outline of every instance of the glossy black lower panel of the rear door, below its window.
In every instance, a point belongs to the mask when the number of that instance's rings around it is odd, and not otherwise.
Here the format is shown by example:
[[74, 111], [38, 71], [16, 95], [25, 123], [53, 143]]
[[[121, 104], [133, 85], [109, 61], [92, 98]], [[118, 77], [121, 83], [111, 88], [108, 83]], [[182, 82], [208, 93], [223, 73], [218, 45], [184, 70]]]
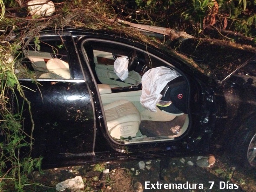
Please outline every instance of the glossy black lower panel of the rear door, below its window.
[[94, 116], [85, 82], [21, 81], [21, 85], [29, 88], [24, 92], [32, 101], [33, 157], [52, 161], [79, 153], [93, 156]]

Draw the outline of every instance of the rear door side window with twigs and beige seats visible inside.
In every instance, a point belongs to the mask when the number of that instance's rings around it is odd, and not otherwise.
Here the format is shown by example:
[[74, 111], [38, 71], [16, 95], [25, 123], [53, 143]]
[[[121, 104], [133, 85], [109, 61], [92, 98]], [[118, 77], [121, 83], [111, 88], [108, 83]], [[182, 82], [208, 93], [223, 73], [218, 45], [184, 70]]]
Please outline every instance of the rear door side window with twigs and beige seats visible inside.
[[16, 64], [19, 78], [70, 79], [68, 52], [64, 41], [56, 38], [31, 41], [23, 48], [20, 61]]

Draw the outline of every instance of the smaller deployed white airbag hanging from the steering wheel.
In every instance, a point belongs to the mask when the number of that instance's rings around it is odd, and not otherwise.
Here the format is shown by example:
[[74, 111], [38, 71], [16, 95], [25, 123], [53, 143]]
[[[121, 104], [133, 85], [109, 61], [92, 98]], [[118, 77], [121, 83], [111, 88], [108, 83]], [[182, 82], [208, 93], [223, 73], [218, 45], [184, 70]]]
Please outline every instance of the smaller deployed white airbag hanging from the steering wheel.
[[129, 57], [121, 56], [117, 57], [114, 62], [114, 71], [115, 74], [123, 81], [128, 77], [128, 63]]

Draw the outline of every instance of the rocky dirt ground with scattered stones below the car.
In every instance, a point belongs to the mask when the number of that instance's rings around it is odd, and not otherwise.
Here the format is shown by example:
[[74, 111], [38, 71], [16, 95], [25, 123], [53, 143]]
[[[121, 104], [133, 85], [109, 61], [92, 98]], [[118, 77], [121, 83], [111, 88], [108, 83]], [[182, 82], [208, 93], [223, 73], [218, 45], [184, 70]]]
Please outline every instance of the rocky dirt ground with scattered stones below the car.
[[[207, 167], [209, 163], [213, 165]], [[72, 181], [67, 180], [71, 178]], [[256, 191], [255, 170], [236, 167], [225, 155], [200, 160], [198, 157], [184, 157], [64, 167], [44, 170], [43, 174], [33, 172], [31, 181], [37, 185], [27, 187], [27, 191], [50, 192], [56, 191], [56, 187], [62, 190], [68, 181], [71, 185], [77, 183], [73, 187], [81, 187], [81, 190], [76, 188], [75, 191]], [[160, 184], [167, 184], [165, 186], [168, 187], [176, 186], [169, 184], [177, 184], [177, 189], [164, 189], [164, 185], [160, 189]]]

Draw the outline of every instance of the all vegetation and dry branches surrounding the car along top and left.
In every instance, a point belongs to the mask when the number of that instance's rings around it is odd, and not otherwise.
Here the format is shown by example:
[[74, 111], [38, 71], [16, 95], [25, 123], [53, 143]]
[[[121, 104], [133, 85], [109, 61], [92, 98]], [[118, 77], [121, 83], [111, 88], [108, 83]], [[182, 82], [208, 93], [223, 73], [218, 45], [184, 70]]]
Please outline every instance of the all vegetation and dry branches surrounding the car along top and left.
[[[20, 153], [23, 148], [32, 149], [32, 114], [31, 133], [28, 135], [22, 127], [22, 110], [13, 111], [9, 105], [16, 100], [15, 94], [24, 98], [24, 103], [19, 103], [21, 109], [24, 104], [30, 104], [14, 73], [17, 58], [12, 57], [19, 54], [19, 48], [26, 46], [25, 39], [31, 40], [40, 30], [64, 26], [106, 29], [134, 36], [147, 44], [156, 41], [145, 38], [134, 29], [117, 25], [116, 19], [121, 18], [178, 29], [197, 37], [207, 36], [208, 28], [217, 30], [218, 37], [228, 39], [230, 37], [224, 32], [237, 31], [256, 43], [256, 0], [75, 0], [65, 3], [60, 0], [55, 1], [58, 2], [55, 14], [45, 18], [29, 16], [27, 1], [0, 0], [0, 191], [24, 191], [28, 185], [35, 185], [28, 183], [28, 174], [34, 169], [40, 170], [42, 158], [32, 159], [30, 151], [25, 158], [21, 158]], [[36, 49], [40, 50], [37, 38], [34, 43]], [[98, 171], [103, 168], [101, 165], [95, 166]]]

